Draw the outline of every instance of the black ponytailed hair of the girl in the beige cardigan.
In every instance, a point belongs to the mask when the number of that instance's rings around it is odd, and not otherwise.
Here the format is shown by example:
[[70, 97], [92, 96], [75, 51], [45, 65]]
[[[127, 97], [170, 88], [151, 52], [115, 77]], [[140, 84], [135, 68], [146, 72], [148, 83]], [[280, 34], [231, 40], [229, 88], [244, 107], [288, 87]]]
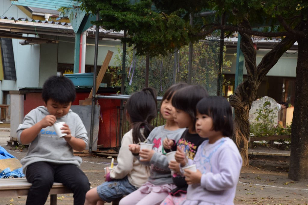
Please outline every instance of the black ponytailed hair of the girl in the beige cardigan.
[[[133, 142], [136, 144], [144, 141], [144, 137], [148, 138], [154, 128], [151, 125], [152, 119], [157, 116], [156, 91], [151, 87], [146, 87], [133, 93], [125, 103], [125, 110], [129, 114], [133, 129]], [[141, 127], [144, 127], [144, 137], [140, 133]]]

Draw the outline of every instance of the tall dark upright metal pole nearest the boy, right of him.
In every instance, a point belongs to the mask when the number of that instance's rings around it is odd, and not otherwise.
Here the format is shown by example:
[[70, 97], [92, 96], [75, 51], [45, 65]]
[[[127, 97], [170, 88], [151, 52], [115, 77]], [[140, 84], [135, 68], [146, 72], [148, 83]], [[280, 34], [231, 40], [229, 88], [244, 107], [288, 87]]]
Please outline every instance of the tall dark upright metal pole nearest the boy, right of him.
[[[99, 11], [96, 14], [96, 21], [99, 21]], [[96, 25], [95, 32], [95, 55], [94, 55], [94, 69], [93, 69], [93, 88], [96, 87], [96, 72], [97, 72], [97, 53], [98, 53], [98, 35], [99, 26]], [[93, 144], [93, 130], [94, 130], [94, 112], [95, 112], [95, 90], [92, 92], [92, 109], [91, 109], [91, 124], [90, 124], [90, 139], [89, 139], [89, 156], [92, 156], [92, 144]]]

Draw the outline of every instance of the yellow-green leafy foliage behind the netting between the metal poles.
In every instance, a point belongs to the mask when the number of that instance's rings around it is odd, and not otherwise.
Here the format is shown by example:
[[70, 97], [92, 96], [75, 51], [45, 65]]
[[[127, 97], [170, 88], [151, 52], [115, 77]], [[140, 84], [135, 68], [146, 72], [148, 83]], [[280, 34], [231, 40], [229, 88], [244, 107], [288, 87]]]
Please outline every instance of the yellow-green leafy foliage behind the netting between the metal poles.
[[[217, 94], [219, 72], [219, 41], [215, 41], [215, 38], [217, 39], [217, 37], [213, 37], [211, 41], [201, 40], [193, 44], [192, 84], [205, 87], [210, 95]], [[176, 83], [187, 82], [188, 46], [176, 52], [178, 54]], [[158, 96], [163, 96], [168, 87], [173, 84], [174, 63], [174, 53], [150, 58], [149, 87], [155, 88]], [[115, 64], [117, 67], [108, 69], [107, 73], [111, 73], [113, 76], [111, 86], [121, 86], [122, 48], [118, 48], [118, 53], [115, 55]], [[225, 60], [224, 56], [223, 70], [227, 72], [230, 67], [231, 62]], [[130, 74], [129, 70], [131, 70]], [[134, 72], [133, 76], [132, 72]], [[125, 73], [126, 95], [142, 89], [145, 85], [145, 56], [136, 56], [136, 52], [132, 48], [127, 50]], [[130, 81], [132, 81], [131, 84], [129, 84]]]

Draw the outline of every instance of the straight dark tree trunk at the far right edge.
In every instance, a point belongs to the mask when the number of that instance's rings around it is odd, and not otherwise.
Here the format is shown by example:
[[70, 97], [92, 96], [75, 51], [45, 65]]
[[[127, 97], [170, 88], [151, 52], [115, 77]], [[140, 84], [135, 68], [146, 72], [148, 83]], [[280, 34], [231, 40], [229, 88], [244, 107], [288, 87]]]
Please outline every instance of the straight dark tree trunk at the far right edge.
[[304, 22], [302, 30], [306, 36], [297, 40], [298, 60], [289, 167], [291, 180], [308, 178], [308, 21]]

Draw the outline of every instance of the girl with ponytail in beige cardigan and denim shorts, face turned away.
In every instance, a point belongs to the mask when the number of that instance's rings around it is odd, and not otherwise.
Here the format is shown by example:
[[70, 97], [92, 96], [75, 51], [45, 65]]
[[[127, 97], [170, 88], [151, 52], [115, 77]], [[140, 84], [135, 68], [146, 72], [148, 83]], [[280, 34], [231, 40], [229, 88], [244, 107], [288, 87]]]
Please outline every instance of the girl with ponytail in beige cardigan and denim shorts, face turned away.
[[153, 129], [151, 122], [157, 116], [156, 91], [144, 88], [132, 94], [124, 110], [131, 130], [124, 134], [115, 169], [106, 168], [106, 182], [89, 190], [84, 205], [103, 205], [123, 195], [128, 195], [143, 185], [150, 176], [150, 168], [129, 151], [128, 145], [145, 141]]

